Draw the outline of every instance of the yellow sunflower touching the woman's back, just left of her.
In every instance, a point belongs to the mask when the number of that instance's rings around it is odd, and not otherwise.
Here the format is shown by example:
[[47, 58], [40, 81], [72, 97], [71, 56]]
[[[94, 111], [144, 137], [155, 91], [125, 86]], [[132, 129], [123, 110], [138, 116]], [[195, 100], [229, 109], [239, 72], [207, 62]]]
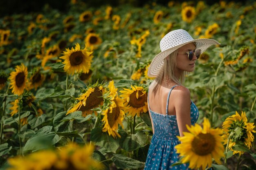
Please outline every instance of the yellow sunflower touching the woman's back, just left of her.
[[126, 107], [125, 112], [128, 112], [128, 116], [131, 115], [139, 117], [140, 113], [146, 113], [148, 111], [148, 94], [143, 87], [132, 86], [131, 89], [124, 88], [124, 91], [120, 91], [123, 99], [126, 100], [124, 106]]

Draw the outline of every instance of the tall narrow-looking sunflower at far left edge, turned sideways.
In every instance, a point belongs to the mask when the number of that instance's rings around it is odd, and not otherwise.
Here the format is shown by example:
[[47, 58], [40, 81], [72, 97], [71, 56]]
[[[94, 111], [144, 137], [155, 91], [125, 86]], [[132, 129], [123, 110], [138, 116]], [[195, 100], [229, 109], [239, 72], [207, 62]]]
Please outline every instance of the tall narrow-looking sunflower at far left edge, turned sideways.
[[15, 71], [10, 73], [10, 85], [12, 88], [12, 93], [16, 95], [21, 95], [27, 85], [27, 67], [21, 64], [16, 66]]

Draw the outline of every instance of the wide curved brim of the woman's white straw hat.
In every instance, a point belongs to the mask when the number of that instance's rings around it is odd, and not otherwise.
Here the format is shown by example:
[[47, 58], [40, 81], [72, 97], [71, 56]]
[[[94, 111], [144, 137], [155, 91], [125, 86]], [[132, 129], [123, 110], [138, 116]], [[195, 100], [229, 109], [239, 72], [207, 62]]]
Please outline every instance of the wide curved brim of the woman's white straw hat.
[[200, 38], [200, 39], [195, 39], [195, 40], [185, 42], [183, 44], [180, 44], [180, 45], [174, 46], [170, 49], [167, 49], [165, 51], [162, 51], [162, 52], [158, 53], [153, 58], [152, 62], [150, 63], [150, 66], [148, 67], [148, 77], [156, 77], [157, 74], [159, 73], [160, 69], [164, 65], [164, 58], [167, 57], [169, 54], [173, 53], [173, 51], [175, 51], [175, 50], [179, 49], [180, 47], [182, 47], [186, 44], [189, 44], [191, 42], [196, 43], [196, 49], [200, 49], [201, 53], [203, 53], [205, 50], [207, 50], [211, 45], [220, 44], [216, 40]]

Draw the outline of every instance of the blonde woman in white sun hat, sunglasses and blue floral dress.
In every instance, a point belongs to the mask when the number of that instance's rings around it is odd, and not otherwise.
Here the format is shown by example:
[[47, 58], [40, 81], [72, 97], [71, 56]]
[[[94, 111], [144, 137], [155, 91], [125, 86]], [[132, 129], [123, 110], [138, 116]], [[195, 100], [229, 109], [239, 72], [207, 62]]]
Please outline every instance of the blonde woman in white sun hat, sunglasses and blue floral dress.
[[187, 132], [198, 119], [198, 108], [190, 99], [189, 89], [182, 86], [186, 72], [195, 69], [195, 62], [216, 40], [196, 39], [183, 29], [169, 32], [160, 41], [161, 53], [149, 68], [148, 76], [156, 77], [148, 90], [148, 110], [153, 137], [144, 170], [188, 170], [188, 164], [171, 166], [179, 160], [176, 136]]

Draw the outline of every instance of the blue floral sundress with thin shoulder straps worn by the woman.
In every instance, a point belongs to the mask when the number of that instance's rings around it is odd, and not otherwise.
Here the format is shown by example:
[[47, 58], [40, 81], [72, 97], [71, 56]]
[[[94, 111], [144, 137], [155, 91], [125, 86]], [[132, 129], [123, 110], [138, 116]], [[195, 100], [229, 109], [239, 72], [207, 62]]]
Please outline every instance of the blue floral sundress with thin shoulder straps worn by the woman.
[[[153, 112], [150, 109], [148, 102], [155, 133], [151, 139], [151, 143], [148, 149], [148, 156], [144, 170], [190, 170], [188, 163], [171, 166], [171, 164], [179, 160], [179, 154], [176, 153], [176, 149], [174, 147], [177, 144], [180, 144], [180, 141], [176, 137], [180, 136], [176, 115], [168, 115], [169, 96], [175, 86], [171, 88], [168, 94], [166, 115]], [[196, 123], [198, 117], [198, 108], [191, 101], [191, 125]]]

